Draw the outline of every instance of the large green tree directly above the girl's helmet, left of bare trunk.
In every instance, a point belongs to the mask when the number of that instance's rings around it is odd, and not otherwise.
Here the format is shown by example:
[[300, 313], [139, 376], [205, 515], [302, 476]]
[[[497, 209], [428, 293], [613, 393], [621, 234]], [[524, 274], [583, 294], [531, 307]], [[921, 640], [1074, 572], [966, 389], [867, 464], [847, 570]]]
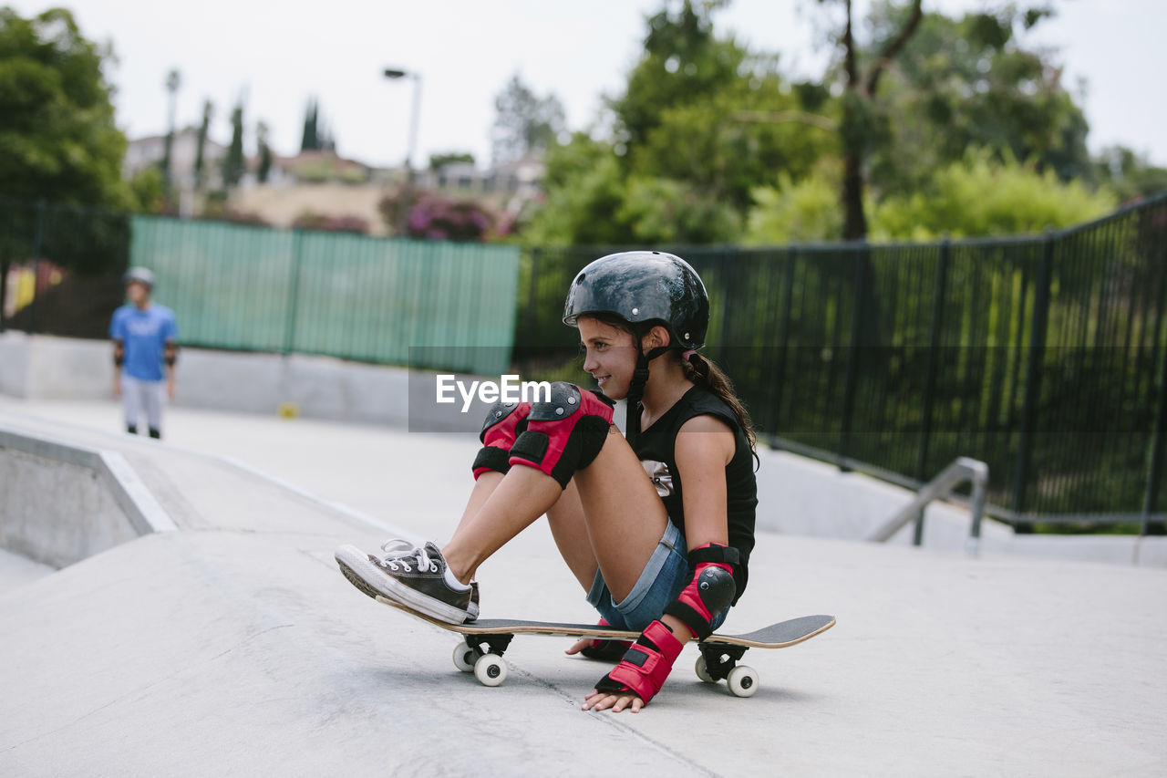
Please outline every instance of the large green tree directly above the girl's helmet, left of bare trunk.
[[[524, 236], [571, 243], [740, 239], [752, 192], [794, 180], [837, 150], [824, 93], [792, 89], [773, 57], [714, 35], [711, 11], [676, 4], [649, 21], [645, 56], [612, 106], [616, 134], [548, 151], [544, 207]], [[672, 222], [672, 223], [670, 223]]]

